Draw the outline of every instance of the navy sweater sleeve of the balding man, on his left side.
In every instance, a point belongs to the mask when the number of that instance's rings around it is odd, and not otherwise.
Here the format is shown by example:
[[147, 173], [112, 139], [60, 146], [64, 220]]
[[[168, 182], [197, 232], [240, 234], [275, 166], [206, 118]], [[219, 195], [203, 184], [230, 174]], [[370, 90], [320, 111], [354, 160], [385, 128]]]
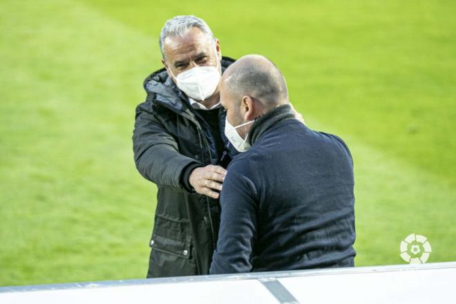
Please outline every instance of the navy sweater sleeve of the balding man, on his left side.
[[210, 274], [251, 272], [256, 238], [256, 190], [245, 164], [229, 167], [220, 197], [222, 212]]

